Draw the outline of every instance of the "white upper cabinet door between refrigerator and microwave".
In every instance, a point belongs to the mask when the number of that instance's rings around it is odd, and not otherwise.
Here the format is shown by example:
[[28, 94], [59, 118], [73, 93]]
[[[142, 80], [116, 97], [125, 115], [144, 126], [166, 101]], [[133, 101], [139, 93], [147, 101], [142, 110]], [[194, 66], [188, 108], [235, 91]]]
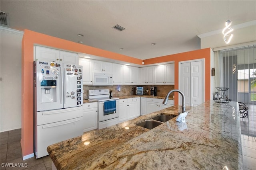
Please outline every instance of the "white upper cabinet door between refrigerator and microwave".
[[83, 66], [83, 84], [92, 84], [92, 62], [91, 60], [79, 57], [79, 65]]

